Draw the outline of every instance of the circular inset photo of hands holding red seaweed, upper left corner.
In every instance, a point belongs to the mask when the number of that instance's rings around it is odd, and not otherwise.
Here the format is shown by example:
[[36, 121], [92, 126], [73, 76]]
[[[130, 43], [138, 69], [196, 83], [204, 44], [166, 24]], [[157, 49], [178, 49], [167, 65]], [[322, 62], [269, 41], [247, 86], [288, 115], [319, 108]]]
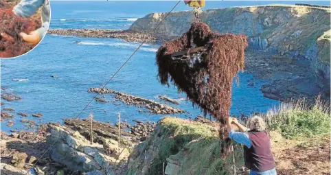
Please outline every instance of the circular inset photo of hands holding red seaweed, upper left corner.
[[0, 0], [0, 58], [34, 49], [47, 33], [50, 17], [49, 0]]

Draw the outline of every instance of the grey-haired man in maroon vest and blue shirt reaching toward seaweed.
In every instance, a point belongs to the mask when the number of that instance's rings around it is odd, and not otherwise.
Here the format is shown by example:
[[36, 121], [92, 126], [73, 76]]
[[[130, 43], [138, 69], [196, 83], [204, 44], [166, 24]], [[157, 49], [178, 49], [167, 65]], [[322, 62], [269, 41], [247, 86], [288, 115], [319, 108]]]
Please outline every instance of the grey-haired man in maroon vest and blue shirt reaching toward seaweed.
[[[234, 131], [231, 124], [235, 124], [240, 132]], [[229, 138], [244, 145], [244, 165], [249, 168], [249, 175], [277, 175], [263, 119], [252, 117], [249, 128], [246, 128], [238, 119], [229, 117], [227, 125]]]

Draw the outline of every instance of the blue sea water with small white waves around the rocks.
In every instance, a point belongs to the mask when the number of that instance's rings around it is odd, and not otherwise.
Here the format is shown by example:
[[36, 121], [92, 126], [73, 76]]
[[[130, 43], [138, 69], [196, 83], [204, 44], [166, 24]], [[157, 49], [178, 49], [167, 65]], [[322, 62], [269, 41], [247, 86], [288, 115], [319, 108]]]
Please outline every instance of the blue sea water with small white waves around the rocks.
[[[52, 29], [93, 28], [128, 29], [137, 19], [151, 12], [168, 12], [176, 1], [51, 1]], [[284, 3], [273, 1], [207, 1], [207, 8], [225, 8], [239, 5], [262, 5]], [[297, 3], [288, 1], [286, 3]], [[326, 2], [312, 2], [328, 5]], [[330, 5], [330, 3], [329, 3]], [[206, 9], [207, 9], [206, 8]], [[175, 11], [190, 10], [181, 3]], [[187, 24], [188, 25], [188, 24]], [[16, 113], [29, 113], [27, 119], [37, 124], [62, 122], [62, 119], [77, 116], [95, 95], [88, 93], [90, 87], [102, 86], [122, 63], [133, 53], [139, 43], [128, 43], [116, 38], [78, 38], [47, 35], [33, 51], [19, 58], [1, 60], [2, 92], [15, 93], [21, 101], [6, 102], [1, 108], [14, 108], [14, 126], [1, 122], [1, 130], [27, 129]], [[159, 45], [145, 44], [123, 67], [106, 88], [156, 100], [157, 95], [166, 95], [179, 100], [179, 106], [187, 110], [182, 118], [202, 115], [185, 100], [185, 94], [177, 93], [176, 87], [162, 86], [157, 80], [155, 51]], [[57, 75], [58, 78], [52, 78]], [[259, 87], [264, 84], [253, 80], [255, 86], [247, 86], [253, 75], [240, 73], [240, 84], [233, 84], [231, 115], [265, 112], [279, 102], [264, 98]], [[105, 95], [112, 101], [112, 95]], [[93, 101], [80, 118], [88, 117], [114, 124], [117, 113], [122, 119], [157, 121], [164, 115], [139, 113], [139, 108], [122, 102], [101, 104]], [[31, 117], [42, 113], [41, 119]]]

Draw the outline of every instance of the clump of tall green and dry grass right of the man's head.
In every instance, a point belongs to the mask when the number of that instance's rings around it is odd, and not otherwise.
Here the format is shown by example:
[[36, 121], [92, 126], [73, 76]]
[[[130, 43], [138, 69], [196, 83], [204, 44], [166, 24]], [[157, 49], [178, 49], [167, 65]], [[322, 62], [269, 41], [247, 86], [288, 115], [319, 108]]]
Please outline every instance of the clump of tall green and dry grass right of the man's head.
[[330, 135], [330, 104], [308, 105], [305, 100], [281, 104], [264, 116], [269, 130], [279, 132], [286, 139], [303, 139]]

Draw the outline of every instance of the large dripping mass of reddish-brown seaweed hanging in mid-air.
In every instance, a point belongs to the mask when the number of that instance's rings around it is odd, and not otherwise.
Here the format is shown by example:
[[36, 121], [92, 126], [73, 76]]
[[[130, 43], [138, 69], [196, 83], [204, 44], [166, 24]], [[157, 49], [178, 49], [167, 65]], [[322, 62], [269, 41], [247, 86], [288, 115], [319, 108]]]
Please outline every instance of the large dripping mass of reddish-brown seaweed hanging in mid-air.
[[[194, 47], [204, 49], [190, 54], [189, 49]], [[220, 152], [223, 158], [231, 152], [227, 139], [227, 118], [231, 106], [232, 81], [238, 71], [244, 69], [246, 47], [246, 36], [218, 34], [212, 32], [205, 23], [195, 22], [181, 38], [163, 43], [157, 51], [161, 84], [169, 86], [169, 82], [172, 82], [205, 115], [209, 114], [220, 121]], [[188, 50], [185, 56], [172, 56], [184, 50]]]

